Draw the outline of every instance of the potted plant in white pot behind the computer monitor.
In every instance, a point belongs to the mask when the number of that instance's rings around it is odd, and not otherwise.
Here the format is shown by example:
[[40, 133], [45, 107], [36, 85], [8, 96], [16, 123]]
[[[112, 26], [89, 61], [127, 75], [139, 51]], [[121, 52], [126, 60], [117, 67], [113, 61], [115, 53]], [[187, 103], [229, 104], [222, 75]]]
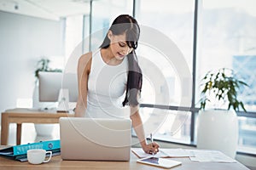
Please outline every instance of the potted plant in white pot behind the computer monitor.
[[[45, 107], [49, 107], [49, 104], [45, 104], [45, 102], [39, 102], [39, 93], [38, 93], [38, 77], [40, 71], [49, 71], [49, 72], [62, 72], [61, 69], [52, 69], [49, 68], [50, 60], [47, 58], [42, 58], [38, 60], [37, 69], [34, 72], [36, 81], [35, 88], [33, 92], [33, 108], [34, 109], [43, 109]], [[35, 124], [35, 129], [38, 136], [49, 136], [53, 131], [53, 125], [50, 124]]]

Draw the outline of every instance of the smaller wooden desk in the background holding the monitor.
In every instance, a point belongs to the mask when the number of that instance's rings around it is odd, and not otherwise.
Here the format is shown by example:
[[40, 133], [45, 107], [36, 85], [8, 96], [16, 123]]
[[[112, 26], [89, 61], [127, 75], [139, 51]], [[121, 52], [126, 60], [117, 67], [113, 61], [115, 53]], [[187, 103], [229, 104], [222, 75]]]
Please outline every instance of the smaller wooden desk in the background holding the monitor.
[[73, 116], [73, 114], [56, 113], [55, 111], [36, 111], [30, 109], [7, 110], [2, 113], [1, 144], [8, 144], [9, 123], [17, 124], [16, 144], [20, 144], [22, 123], [58, 123], [60, 117], [67, 116]]

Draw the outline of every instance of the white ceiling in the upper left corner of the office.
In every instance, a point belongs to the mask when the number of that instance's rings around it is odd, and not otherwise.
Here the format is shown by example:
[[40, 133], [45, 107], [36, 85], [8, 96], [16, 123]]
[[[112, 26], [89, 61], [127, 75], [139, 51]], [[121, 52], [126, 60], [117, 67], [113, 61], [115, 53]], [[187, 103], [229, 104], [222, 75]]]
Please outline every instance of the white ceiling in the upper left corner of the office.
[[90, 0], [0, 0], [0, 10], [60, 20], [60, 17], [89, 14]]

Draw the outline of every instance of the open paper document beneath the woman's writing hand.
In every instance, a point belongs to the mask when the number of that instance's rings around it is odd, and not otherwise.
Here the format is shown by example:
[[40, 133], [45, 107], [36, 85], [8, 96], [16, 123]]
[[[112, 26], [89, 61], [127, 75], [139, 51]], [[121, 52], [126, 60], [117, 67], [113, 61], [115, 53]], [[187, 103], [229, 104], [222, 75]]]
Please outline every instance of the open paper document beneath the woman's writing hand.
[[[142, 148], [131, 148], [131, 151], [139, 158], [151, 156], [144, 152]], [[160, 148], [159, 152], [154, 155], [154, 157], [189, 157], [194, 156], [192, 152], [183, 150], [181, 148], [177, 149], [162, 149]]]

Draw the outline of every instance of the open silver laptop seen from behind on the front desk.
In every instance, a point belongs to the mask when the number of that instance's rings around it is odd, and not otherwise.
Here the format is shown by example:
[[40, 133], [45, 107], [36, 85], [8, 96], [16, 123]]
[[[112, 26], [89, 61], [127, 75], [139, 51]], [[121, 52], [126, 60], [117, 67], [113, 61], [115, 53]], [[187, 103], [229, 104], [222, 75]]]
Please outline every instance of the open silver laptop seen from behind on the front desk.
[[61, 117], [60, 131], [63, 160], [130, 160], [130, 119]]

